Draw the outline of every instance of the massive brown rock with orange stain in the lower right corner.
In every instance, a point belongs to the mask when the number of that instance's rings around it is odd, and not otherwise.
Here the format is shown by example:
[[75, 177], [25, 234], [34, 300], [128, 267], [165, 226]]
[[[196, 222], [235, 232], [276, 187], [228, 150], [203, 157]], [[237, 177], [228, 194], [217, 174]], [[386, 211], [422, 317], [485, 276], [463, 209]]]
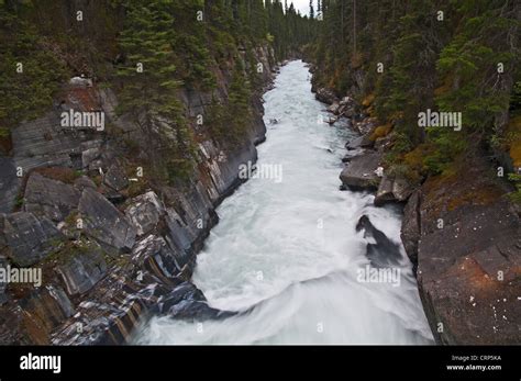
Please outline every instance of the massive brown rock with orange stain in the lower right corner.
[[520, 211], [472, 163], [409, 199], [402, 240], [440, 344], [519, 344]]

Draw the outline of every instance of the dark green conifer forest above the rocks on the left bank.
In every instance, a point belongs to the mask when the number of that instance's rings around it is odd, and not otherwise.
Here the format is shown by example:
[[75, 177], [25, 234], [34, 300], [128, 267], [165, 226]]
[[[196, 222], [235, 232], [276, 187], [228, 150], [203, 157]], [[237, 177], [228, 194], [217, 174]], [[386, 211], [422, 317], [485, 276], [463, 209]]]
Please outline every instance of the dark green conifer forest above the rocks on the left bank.
[[311, 42], [315, 26], [292, 5], [285, 13], [280, 1], [99, 0], [84, 9], [82, 23], [65, 5], [0, 2], [0, 149], [11, 149], [13, 126], [49, 110], [66, 79], [85, 72], [97, 89], [117, 92], [117, 112], [141, 131], [135, 142], [108, 125], [109, 137], [146, 156], [153, 178], [168, 183], [190, 178], [196, 143], [209, 137], [190, 126], [182, 96], [221, 99], [204, 110], [217, 121], [206, 125], [225, 144], [242, 143], [252, 123], [252, 93], [264, 78], [255, 49], [274, 48], [278, 59], [287, 58]]

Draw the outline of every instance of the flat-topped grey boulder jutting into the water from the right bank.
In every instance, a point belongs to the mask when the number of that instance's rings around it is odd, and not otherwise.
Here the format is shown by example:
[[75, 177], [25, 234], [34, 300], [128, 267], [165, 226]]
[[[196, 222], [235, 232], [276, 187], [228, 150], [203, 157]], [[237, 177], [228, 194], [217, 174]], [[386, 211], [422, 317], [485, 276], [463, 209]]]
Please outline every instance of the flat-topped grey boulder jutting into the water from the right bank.
[[376, 190], [380, 178], [376, 176], [381, 155], [378, 153], [368, 153], [354, 157], [340, 175], [344, 186], [354, 190]]

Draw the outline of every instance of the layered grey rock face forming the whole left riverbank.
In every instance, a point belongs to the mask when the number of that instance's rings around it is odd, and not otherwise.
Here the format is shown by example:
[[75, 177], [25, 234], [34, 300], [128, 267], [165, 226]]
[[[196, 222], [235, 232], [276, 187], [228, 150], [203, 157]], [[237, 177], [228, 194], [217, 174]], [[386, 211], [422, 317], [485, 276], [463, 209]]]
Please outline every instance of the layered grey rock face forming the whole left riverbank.
[[[269, 86], [271, 48], [251, 54]], [[219, 70], [215, 93], [224, 99], [231, 76]], [[189, 116], [204, 115], [212, 102], [212, 94], [191, 89], [179, 98]], [[59, 126], [64, 109], [96, 109], [126, 136], [143, 138], [117, 107], [110, 90], [69, 83], [59, 107], [13, 130], [12, 156], [0, 159], [0, 264], [41, 270], [43, 284], [0, 284], [1, 344], [123, 344], [148, 313], [230, 314], [209, 307], [189, 280], [219, 220], [214, 209], [244, 181], [240, 165], [256, 160], [255, 145], [265, 138], [260, 98], [241, 145], [221, 147], [200, 134], [197, 171], [180, 188], [144, 181], [138, 158], [125, 156], [106, 131]]]

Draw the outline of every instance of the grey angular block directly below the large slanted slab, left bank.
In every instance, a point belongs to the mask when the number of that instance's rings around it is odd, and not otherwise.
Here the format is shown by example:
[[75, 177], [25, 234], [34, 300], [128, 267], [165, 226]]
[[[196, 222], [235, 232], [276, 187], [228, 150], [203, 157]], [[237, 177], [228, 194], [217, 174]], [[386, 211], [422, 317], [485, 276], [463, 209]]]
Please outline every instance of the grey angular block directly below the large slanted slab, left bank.
[[107, 262], [99, 245], [78, 243], [74, 254], [68, 256], [65, 264], [56, 271], [62, 276], [69, 295], [82, 294], [89, 291], [107, 274]]

